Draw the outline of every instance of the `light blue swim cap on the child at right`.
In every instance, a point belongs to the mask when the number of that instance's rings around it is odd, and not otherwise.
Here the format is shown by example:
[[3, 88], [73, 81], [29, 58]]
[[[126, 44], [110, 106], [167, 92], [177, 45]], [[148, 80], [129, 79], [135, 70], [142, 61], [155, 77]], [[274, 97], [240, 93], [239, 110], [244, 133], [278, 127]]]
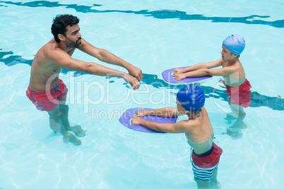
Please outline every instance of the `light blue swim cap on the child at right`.
[[223, 41], [223, 45], [233, 54], [241, 54], [246, 46], [244, 38], [240, 35], [230, 35]]

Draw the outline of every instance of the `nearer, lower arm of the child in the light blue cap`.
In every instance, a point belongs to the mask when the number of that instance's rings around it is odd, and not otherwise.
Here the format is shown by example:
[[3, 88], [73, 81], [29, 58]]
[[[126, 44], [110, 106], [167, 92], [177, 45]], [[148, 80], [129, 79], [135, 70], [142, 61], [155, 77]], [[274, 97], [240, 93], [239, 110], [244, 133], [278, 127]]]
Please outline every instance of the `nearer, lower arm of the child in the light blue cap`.
[[235, 73], [238, 71], [237, 66], [226, 66], [224, 68], [218, 68], [218, 69], [208, 69], [203, 68], [198, 71], [191, 71], [187, 73], [178, 73], [174, 76], [175, 80], [182, 80], [184, 78], [191, 78], [191, 77], [202, 77], [206, 75], [230, 75], [232, 73]]

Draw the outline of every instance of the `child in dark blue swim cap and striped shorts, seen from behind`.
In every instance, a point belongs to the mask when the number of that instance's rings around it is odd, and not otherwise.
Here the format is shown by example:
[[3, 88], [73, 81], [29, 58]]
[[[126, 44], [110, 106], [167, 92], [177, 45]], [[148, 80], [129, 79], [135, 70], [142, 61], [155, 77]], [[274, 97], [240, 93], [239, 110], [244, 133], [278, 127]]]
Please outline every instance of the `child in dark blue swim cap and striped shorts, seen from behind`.
[[[167, 133], [185, 133], [189, 145], [193, 148], [191, 164], [198, 188], [220, 188], [217, 170], [223, 150], [213, 142], [213, 128], [203, 107], [204, 103], [203, 90], [198, 86], [189, 85], [177, 92], [177, 108], [141, 110], [134, 115], [131, 123]], [[146, 115], [177, 117], [182, 114], [189, 116], [189, 119], [177, 123], [156, 123], [140, 118]]]

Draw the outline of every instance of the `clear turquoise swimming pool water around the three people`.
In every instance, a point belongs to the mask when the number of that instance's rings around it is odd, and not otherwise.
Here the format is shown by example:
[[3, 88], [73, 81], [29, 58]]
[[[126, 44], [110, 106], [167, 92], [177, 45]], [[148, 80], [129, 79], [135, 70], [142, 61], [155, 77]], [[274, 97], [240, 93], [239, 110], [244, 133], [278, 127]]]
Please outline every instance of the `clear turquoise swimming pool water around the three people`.
[[[139, 133], [118, 118], [134, 106], [175, 106], [179, 87], [161, 73], [220, 58], [221, 42], [239, 34], [240, 60], [252, 84], [247, 128], [225, 120], [218, 77], [201, 84], [223, 148], [223, 188], [283, 188], [283, 1], [0, 1], [0, 188], [196, 188], [184, 134]], [[48, 116], [25, 97], [30, 63], [52, 38], [52, 18], [71, 13], [81, 34], [141, 68], [136, 91], [124, 80], [64, 70], [69, 120], [87, 130], [79, 147], [64, 144]], [[95, 61], [80, 51], [76, 59]], [[102, 63], [102, 65], [106, 65]], [[110, 66], [111, 68], [124, 69]]]

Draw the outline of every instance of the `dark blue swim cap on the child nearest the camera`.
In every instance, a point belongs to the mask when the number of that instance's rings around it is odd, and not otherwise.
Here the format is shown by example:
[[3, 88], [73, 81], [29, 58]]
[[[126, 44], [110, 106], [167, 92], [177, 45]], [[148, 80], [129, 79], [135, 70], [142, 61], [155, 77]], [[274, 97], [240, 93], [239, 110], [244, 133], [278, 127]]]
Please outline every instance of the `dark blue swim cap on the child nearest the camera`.
[[196, 85], [188, 85], [177, 92], [177, 99], [184, 109], [199, 112], [205, 103], [203, 90]]

